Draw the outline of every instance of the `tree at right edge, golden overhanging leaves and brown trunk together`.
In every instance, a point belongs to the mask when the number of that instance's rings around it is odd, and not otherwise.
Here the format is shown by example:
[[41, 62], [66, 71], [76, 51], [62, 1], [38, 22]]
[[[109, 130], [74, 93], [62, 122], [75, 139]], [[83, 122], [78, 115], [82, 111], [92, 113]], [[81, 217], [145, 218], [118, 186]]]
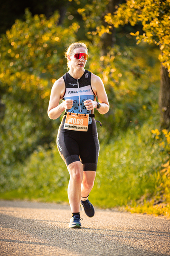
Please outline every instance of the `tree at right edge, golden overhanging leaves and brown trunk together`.
[[134, 26], [142, 22], [143, 35], [139, 35], [139, 31], [131, 33], [136, 36], [137, 44], [143, 40], [159, 46], [161, 126], [170, 128], [170, 0], [127, 0], [119, 5], [114, 15], [105, 15], [105, 22], [115, 28], [127, 23]]

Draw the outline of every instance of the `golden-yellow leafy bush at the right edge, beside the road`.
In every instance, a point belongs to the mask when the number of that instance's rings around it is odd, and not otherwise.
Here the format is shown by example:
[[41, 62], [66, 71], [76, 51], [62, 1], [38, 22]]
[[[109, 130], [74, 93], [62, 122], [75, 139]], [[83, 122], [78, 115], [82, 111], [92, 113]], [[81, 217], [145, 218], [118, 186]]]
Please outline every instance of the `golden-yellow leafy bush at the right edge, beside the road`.
[[159, 131], [156, 128], [151, 132], [158, 151], [164, 155], [158, 172], [153, 175], [153, 180], [157, 180], [156, 193], [153, 197], [144, 195], [142, 201], [133, 202], [125, 209], [130, 212], [163, 215], [170, 218], [170, 131], [166, 129]]

